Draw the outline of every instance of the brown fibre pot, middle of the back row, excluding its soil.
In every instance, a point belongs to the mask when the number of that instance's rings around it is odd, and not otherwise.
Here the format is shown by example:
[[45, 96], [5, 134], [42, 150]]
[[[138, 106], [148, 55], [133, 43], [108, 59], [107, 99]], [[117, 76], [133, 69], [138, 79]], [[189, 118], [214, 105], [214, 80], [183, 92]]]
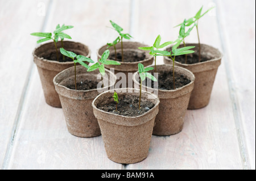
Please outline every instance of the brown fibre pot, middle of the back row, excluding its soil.
[[[98, 60], [101, 58], [101, 55], [104, 53], [104, 51], [107, 49], [108, 45], [104, 45], [103, 47], [101, 47], [100, 49], [98, 49], [97, 51], [97, 57]], [[121, 43], [118, 43], [117, 45], [115, 45], [116, 49], [117, 49], [117, 53], [121, 53]], [[151, 56], [150, 54], [148, 54], [147, 51], [145, 50], [141, 50], [138, 49], [138, 47], [148, 47], [148, 45], [142, 44], [142, 43], [138, 43], [138, 42], [131, 42], [131, 41], [125, 41], [123, 42], [123, 52], [127, 51], [127, 50], [133, 50], [134, 52], [144, 52], [145, 54], [145, 58], [142, 61], [137, 61], [137, 62], [129, 62], [129, 61], [119, 61], [119, 63], [121, 65], [105, 65], [106, 68], [110, 69], [110, 68], [114, 68], [115, 70], [115, 74], [118, 73], [124, 73], [126, 76], [126, 87], [133, 87], [133, 83], [129, 86], [128, 82], [133, 82], [133, 73], [135, 73], [135, 71], [138, 70], [138, 64], [141, 63], [144, 66], [149, 66], [152, 65], [153, 61], [154, 61], [154, 57]], [[110, 54], [114, 53], [114, 48], [110, 47]], [[131, 74], [128, 74], [131, 73]], [[117, 77], [118, 78], [118, 77]], [[120, 78], [121, 79], [121, 78]], [[124, 88], [124, 87], [120, 87], [120, 88]]]

